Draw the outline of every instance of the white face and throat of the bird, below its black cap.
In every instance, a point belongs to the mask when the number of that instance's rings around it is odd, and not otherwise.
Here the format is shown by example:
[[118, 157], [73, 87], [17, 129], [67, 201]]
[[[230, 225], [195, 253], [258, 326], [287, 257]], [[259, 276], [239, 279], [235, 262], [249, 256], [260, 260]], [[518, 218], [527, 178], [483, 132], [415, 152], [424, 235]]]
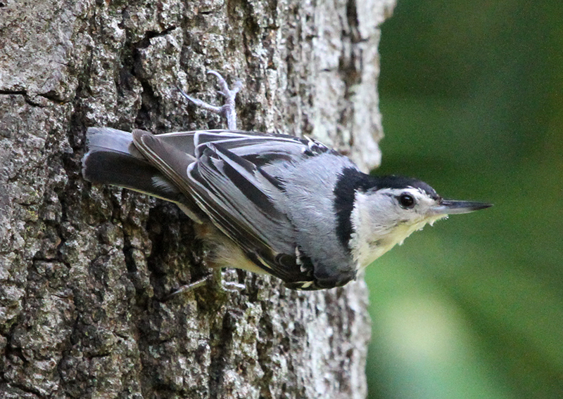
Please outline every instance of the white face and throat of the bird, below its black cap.
[[358, 266], [372, 263], [426, 223], [445, 218], [446, 214], [436, 214], [433, 210], [437, 205], [436, 199], [417, 188], [356, 192], [352, 212], [355, 233], [350, 239], [350, 248]]

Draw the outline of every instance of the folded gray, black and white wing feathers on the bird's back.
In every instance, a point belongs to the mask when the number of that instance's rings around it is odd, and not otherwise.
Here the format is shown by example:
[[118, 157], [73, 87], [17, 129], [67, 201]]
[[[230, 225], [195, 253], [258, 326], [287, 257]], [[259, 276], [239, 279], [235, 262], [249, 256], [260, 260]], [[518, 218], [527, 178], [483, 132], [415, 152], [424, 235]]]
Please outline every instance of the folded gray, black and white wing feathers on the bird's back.
[[298, 259], [295, 227], [283, 211], [284, 182], [260, 165], [328, 149], [291, 136], [196, 131], [182, 133], [194, 135], [197, 161], [189, 162], [186, 148], [169, 141], [172, 134], [161, 138], [134, 131], [133, 136], [143, 155], [193, 198], [248, 259], [293, 287], [311, 282], [312, 265]]

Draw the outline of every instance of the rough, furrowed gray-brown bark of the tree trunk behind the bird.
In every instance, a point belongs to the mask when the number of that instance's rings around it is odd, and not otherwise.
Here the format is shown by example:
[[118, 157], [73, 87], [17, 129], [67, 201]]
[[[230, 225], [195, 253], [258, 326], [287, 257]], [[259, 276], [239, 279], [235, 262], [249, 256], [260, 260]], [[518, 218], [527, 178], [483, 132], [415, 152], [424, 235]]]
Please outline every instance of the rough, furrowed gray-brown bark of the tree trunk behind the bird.
[[379, 162], [391, 0], [0, 0], [0, 398], [362, 398], [365, 283], [293, 292], [207, 273], [186, 216], [80, 174], [87, 126], [309, 134]]

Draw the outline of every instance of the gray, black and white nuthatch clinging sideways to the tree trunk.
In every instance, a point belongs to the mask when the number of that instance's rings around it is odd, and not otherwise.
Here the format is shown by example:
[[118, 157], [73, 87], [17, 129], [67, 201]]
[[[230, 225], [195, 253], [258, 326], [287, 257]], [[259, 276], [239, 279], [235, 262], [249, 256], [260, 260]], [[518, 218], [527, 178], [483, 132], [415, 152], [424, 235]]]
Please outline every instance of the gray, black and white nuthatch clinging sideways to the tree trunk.
[[236, 130], [234, 96], [214, 71], [229, 130], [153, 135], [92, 127], [87, 181], [178, 204], [201, 226], [208, 263], [267, 273], [292, 289], [340, 287], [426, 223], [490, 207], [443, 199], [428, 184], [362, 173], [317, 140]]

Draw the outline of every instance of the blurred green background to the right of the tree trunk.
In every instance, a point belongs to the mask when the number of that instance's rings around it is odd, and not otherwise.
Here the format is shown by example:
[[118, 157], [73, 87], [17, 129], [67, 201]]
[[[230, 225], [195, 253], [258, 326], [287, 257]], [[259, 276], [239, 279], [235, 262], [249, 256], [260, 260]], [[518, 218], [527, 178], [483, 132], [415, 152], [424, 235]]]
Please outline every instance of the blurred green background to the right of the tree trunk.
[[563, 398], [563, 1], [398, 0], [377, 174], [495, 207], [367, 268], [369, 398]]

